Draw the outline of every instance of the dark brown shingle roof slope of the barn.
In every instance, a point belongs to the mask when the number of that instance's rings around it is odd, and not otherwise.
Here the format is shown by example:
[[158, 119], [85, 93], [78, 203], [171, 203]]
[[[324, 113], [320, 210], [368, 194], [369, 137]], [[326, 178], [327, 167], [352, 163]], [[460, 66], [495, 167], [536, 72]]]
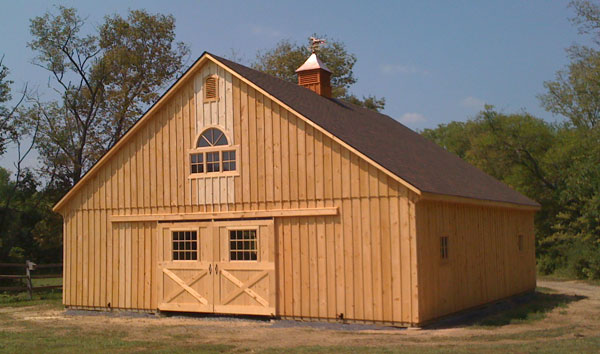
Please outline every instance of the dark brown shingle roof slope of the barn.
[[422, 192], [539, 206], [387, 115], [211, 56]]

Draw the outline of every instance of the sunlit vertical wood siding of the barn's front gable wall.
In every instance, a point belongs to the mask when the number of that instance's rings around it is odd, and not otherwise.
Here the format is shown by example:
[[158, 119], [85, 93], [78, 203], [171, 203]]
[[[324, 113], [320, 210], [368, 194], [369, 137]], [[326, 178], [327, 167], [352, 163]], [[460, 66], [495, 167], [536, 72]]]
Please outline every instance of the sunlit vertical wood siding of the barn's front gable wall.
[[[205, 104], [207, 74], [221, 99]], [[337, 207], [275, 218], [277, 315], [419, 322], [413, 192], [211, 62], [178, 87], [63, 208], [65, 305], [156, 309], [157, 223], [112, 215]], [[209, 123], [240, 146], [239, 176], [188, 178]]]

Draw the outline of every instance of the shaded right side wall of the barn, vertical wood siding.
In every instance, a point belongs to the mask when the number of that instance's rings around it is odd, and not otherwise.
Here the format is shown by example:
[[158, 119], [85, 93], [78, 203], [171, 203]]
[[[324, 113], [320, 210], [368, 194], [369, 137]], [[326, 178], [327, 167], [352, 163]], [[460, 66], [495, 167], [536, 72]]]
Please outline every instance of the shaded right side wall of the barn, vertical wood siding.
[[[533, 291], [533, 216], [533, 211], [519, 209], [419, 201], [421, 321]], [[443, 236], [449, 240], [447, 260], [440, 254]]]

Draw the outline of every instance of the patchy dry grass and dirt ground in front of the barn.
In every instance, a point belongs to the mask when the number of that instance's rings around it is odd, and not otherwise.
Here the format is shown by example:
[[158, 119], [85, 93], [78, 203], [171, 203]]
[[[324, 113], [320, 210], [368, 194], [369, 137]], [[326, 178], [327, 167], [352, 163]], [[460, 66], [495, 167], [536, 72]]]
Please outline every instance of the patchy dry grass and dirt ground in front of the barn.
[[529, 301], [452, 326], [389, 327], [64, 311], [60, 299], [0, 303], [8, 352], [487, 352], [600, 350], [600, 287], [543, 281]]

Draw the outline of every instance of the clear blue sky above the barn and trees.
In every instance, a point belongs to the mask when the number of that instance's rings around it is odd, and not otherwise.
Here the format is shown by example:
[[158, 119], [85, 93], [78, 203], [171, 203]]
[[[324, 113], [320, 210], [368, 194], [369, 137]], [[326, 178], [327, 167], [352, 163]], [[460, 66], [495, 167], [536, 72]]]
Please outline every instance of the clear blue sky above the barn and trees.
[[[30, 64], [29, 19], [73, 6], [90, 30], [128, 9], [171, 13], [178, 40], [250, 62], [257, 50], [312, 33], [346, 43], [358, 61], [358, 96], [385, 97], [384, 113], [412, 129], [473, 117], [484, 102], [555, 121], [539, 105], [543, 82], [568, 63], [565, 48], [583, 43], [566, 1], [11, 1], [0, 13], [0, 55], [15, 89], [49, 92], [49, 75]], [[14, 152], [2, 157], [8, 167]], [[30, 165], [34, 165], [32, 161]]]

